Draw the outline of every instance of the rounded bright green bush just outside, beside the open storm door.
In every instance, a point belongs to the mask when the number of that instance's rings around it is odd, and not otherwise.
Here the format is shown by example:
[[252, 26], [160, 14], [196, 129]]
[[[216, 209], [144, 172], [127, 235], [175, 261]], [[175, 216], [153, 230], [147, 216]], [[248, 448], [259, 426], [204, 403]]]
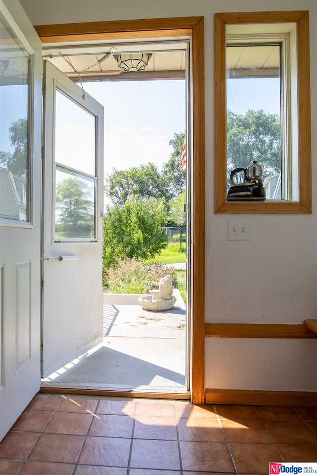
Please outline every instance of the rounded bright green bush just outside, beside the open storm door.
[[154, 257], [167, 246], [166, 220], [163, 199], [150, 197], [145, 201], [131, 196], [122, 206], [107, 206], [104, 268], [108, 269], [122, 257]]

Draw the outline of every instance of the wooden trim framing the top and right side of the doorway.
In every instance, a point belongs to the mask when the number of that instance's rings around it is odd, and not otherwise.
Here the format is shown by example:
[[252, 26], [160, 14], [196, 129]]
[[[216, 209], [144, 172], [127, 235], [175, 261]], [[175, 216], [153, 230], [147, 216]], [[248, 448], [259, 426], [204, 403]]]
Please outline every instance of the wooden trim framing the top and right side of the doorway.
[[[191, 322], [190, 389], [193, 404], [205, 403], [205, 55], [204, 17], [154, 18], [39, 25], [42, 43], [159, 39], [191, 41]], [[172, 394], [170, 395], [172, 396]]]

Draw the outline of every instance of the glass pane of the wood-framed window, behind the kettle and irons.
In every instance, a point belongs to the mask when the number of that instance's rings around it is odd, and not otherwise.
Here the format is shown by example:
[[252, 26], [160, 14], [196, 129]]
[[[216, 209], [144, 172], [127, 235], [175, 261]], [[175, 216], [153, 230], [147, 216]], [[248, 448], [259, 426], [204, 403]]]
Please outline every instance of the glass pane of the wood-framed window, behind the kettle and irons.
[[228, 45], [226, 64], [227, 189], [232, 170], [257, 160], [266, 199], [281, 199], [280, 45]]

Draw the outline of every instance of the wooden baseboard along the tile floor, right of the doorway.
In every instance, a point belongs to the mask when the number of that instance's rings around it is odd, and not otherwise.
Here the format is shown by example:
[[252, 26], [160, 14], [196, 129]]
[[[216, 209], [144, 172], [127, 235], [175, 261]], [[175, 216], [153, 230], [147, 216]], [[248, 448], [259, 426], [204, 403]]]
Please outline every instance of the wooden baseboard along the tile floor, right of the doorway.
[[317, 406], [317, 392], [206, 389], [206, 404], [250, 406]]

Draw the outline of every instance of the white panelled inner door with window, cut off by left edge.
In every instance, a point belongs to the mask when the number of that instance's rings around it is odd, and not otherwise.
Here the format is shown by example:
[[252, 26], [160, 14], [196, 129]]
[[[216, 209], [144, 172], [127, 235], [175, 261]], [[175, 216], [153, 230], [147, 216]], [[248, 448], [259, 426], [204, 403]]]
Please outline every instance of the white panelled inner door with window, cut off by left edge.
[[42, 43], [16, 0], [0, 31], [1, 440], [40, 388]]

